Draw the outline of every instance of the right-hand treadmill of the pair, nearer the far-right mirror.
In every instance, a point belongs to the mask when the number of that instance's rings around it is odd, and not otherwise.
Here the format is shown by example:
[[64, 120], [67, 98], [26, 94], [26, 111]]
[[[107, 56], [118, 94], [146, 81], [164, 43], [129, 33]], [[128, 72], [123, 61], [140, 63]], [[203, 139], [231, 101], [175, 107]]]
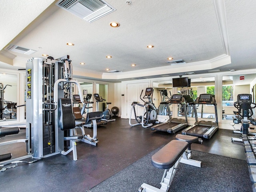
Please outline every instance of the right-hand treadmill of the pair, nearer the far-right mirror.
[[[216, 104], [215, 96], [212, 94], [200, 94], [200, 96], [196, 98], [196, 100], [192, 104], [195, 112], [196, 122], [194, 123], [194, 125], [182, 130], [182, 134], [210, 139], [213, 136], [213, 134], [218, 130], [218, 116], [217, 116], [217, 107], [216, 107], [217, 104]], [[196, 104], [214, 105], [216, 121], [206, 121], [206, 120], [198, 121], [198, 117], [196, 113]]]

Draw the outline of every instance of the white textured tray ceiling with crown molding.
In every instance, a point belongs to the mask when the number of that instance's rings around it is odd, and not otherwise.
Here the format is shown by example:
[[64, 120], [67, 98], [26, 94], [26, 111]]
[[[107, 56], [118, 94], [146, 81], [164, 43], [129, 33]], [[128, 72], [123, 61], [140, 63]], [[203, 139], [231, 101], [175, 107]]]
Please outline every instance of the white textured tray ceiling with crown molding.
[[[116, 11], [92, 23], [56, 2], [1, 0], [0, 68], [24, 68], [27, 59], [42, 54], [69, 55], [78, 77], [116, 82], [255, 68], [255, 0], [106, 0]], [[120, 27], [111, 28], [112, 21]], [[37, 52], [5, 51], [10, 44]], [[168, 57], [187, 64], [170, 66]]]

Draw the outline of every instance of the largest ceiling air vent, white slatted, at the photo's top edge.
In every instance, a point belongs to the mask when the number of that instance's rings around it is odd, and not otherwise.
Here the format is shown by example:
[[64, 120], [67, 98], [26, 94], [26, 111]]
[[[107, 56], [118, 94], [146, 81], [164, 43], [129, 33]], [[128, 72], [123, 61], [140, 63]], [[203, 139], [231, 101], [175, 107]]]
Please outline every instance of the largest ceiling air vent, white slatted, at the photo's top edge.
[[90, 23], [116, 10], [104, 0], [59, 0], [56, 5]]

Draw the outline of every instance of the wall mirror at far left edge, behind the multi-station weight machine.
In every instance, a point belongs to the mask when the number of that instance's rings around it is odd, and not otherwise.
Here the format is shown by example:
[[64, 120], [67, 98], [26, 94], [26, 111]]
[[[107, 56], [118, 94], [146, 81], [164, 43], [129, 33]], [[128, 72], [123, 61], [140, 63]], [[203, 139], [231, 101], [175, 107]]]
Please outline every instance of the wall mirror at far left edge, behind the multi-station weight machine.
[[0, 72], [0, 122], [17, 120], [17, 78]]

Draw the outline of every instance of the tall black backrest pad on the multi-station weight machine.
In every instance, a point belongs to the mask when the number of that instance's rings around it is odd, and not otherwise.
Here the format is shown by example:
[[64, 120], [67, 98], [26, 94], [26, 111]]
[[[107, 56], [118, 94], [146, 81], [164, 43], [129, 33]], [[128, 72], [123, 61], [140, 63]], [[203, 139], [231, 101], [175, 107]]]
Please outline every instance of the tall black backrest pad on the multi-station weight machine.
[[69, 98], [60, 99], [60, 129], [68, 130], [76, 127], [76, 122], [72, 113], [72, 104]]

